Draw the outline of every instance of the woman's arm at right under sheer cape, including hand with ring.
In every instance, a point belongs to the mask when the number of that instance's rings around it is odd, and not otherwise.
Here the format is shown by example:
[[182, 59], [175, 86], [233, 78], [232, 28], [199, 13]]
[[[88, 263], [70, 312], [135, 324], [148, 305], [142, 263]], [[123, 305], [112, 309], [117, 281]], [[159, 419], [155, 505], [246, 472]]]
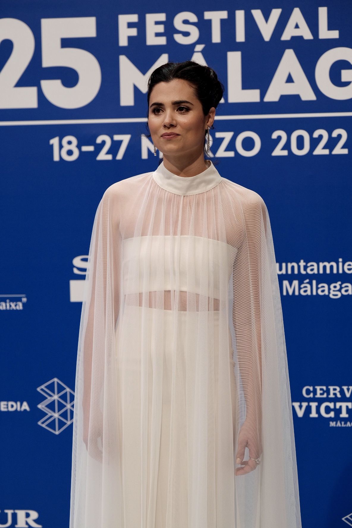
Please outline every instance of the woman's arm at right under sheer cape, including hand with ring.
[[[258, 195], [257, 195], [258, 196]], [[245, 429], [240, 433], [236, 458], [244, 459], [246, 441], [251, 458], [260, 457], [262, 420], [262, 361], [261, 361], [261, 247], [265, 244], [265, 205], [258, 199], [243, 205], [244, 237], [233, 265], [233, 324], [236, 337], [237, 365], [241, 373], [245, 404]], [[236, 474], [255, 468], [250, 461]]]

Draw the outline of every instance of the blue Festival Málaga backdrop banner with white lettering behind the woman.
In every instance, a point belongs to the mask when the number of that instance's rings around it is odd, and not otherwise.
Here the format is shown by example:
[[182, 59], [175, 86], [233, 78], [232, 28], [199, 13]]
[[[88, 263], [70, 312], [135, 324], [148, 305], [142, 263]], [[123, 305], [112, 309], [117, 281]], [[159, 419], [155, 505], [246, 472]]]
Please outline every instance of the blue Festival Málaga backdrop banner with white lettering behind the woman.
[[352, 526], [351, 27], [350, 0], [2, 0], [0, 526], [68, 526], [94, 214], [156, 168], [146, 82], [188, 59], [225, 85], [218, 171], [269, 210], [303, 528]]

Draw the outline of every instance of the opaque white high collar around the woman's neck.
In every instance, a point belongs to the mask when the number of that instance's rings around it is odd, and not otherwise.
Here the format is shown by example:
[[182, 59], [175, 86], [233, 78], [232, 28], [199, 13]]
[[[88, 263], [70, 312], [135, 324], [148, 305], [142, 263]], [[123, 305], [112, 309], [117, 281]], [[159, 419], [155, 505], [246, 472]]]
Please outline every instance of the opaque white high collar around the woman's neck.
[[208, 160], [207, 163], [210, 163], [208, 168], [195, 176], [177, 176], [173, 172], [168, 171], [163, 160], [156, 171], [153, 172], [153, 178], [160, 187], [174, 194], [204, 193], [215, 187], [222, 180], [213, 162]]

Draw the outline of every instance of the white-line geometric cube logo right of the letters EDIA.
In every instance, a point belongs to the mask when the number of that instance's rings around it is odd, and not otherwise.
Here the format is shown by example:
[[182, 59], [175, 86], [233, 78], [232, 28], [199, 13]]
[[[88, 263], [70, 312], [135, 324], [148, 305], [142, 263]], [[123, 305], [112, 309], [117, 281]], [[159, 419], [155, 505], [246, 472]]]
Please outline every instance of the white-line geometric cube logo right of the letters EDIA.
[[46, 413], [38, 424], [58, 435], [73, 422], [74, 392], [58, 378], [47, 381], [37, 391], [46, 396], [37, 405]]

